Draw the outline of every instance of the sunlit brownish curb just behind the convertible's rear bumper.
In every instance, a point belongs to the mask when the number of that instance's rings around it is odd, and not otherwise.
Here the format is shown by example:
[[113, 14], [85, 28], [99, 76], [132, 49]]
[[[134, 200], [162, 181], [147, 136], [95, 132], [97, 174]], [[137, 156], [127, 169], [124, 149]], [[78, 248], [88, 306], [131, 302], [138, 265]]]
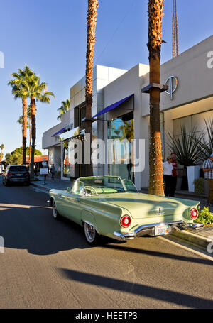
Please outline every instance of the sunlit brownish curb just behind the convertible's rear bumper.
[[192, 234], [188, 231], [177, 231], [170, 234], [175, 240], [187, 241], [187, 243], [192, 244], [192, 246], [201, 248], [207, 251], [207, 246], [209, 245], [208, 238], [204, 236], [198, 236], [197, 234]]

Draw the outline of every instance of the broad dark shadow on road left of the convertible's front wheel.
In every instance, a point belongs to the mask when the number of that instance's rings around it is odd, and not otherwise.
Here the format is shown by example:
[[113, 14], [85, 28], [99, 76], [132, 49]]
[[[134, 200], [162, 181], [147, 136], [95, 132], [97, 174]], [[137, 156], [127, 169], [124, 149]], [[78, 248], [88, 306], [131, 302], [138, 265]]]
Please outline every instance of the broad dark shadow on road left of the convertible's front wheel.
[[36, 255], [91, 248], [81, 226], [65, 218], [56, 221], [52, 209], [43, 206], [0, 203], [0, 236], [4, 248]]

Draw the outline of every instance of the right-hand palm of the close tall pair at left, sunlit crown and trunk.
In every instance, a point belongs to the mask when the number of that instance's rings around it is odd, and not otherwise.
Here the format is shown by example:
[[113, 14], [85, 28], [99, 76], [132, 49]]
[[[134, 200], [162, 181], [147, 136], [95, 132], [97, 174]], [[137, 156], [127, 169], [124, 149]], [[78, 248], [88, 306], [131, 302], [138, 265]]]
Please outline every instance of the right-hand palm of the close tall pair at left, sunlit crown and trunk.
[[43, 103], [50, 104], [50, 96], [55, 97], [53, 92], [46, 91], [47, 84], [45, 82], [40, 83], [40, 78], [33, 74], [28, 80], [28, 91], [31, 97], [31, 133], [32, 133], [32, 149], [31, 149], [31, 178], [34, 177], [34, 154], [35, 154], [35, 139], [36, 139], [36, 104], [35, 100]]

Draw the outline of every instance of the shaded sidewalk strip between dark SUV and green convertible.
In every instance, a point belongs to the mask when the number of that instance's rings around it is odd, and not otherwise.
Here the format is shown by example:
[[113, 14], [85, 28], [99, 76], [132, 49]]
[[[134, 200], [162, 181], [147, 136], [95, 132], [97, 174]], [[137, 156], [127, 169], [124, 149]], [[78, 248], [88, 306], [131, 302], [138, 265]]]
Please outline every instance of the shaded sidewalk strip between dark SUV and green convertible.
[[44, 182], [43, 176], [36, 176], [38, 181], [31, 182], [31, 185], [42, 188], [43, 190], [49, 192], [51, 188], [55, 188], [56, 190], [66, 190], [67, 187], [72, 186], [72, 181], [70, 180], [61, 180], [60, 178], [51, 179], [51, 177], [47, 177]]

